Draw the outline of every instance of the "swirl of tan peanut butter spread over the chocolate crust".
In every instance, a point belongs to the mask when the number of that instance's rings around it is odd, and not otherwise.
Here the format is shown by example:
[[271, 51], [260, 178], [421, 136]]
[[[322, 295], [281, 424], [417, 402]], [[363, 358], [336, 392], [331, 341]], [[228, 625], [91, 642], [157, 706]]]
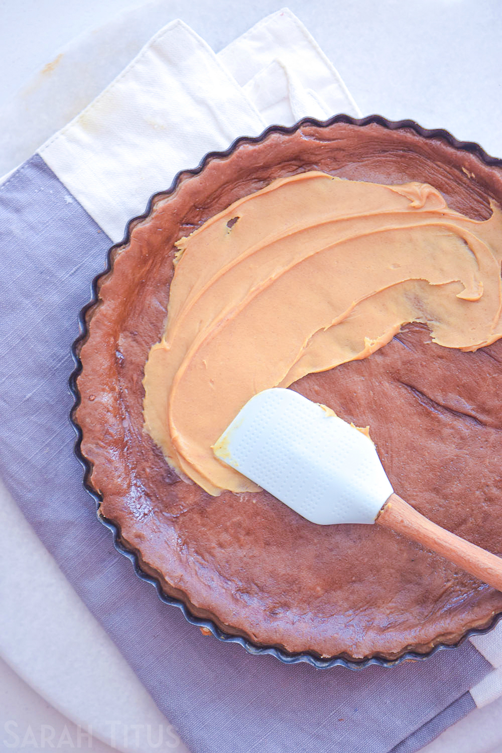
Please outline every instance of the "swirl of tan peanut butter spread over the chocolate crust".
[[145, 366], [145, 429], [212, 495], [257, 486], [212, 446], [257, 392], [366, 358], [408, 322], [442, 346], [502, 336], [502, 212], [454, 212], [430, 185], [304, 172], [178, 244], [166, 328]]

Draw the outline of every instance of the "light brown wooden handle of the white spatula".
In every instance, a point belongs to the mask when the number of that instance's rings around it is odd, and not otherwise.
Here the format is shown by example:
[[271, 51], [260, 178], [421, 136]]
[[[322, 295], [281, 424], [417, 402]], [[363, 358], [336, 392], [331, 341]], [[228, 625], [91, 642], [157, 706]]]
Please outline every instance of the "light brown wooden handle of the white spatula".
[[502, 557], [437, 526], [397, 494], [391, 494], [375, 522], [433, 549], [470, 575], [502, 591]]

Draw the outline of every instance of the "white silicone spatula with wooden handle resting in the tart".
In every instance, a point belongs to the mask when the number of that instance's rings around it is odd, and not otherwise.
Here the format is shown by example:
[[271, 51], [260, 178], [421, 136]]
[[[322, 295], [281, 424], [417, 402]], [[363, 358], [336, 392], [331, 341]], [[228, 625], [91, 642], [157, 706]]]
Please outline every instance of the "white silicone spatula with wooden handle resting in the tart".
[[251, 398], [214, 454], [312, 523], [378, 523], [502, 591], [502, 558], [432, 523], [397, 494], [373, 442], [291, 389]]

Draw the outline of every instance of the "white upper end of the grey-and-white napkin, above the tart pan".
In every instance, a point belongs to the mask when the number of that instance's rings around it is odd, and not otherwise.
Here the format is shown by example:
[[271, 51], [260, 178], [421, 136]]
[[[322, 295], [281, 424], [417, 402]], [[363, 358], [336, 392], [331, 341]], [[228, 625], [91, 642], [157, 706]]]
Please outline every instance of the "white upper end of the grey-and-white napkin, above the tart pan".
[[263, 20], [219, 55], [177, 20], [38, 151], [116, 242], [154, 191], [208, 151], [257, 136], [273, 122], [337, 112], [358, 114], [290, 11]]

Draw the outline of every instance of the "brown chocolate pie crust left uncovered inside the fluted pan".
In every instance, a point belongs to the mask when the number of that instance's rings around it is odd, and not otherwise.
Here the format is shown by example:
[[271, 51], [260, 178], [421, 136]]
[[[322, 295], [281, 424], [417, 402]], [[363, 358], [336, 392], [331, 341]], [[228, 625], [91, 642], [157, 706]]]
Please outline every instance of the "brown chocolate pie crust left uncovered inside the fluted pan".
[[[191, 614], [252, 645], [361, 662], [455, 644], [502, 612], [502, 593], [379, 526], [316, 526], [267, 492], [208, 495], [169, 468], [142, 415], [141, 380], [163, 332], [178, 239], [273, 179], [308, 170], [426, 182], [452, 209], [487, 219], [490, 200], [502, 203], [502, 170], [480, 152], [412, 123], [302, 121], [181, 173], [112, 249], [76, 346], [72, 417], [100, 515]], [[370, 358], [292, 389], [370, 425], [397, 494], [502, 554], [502, 340], [461, 352], [407, 325]]]

